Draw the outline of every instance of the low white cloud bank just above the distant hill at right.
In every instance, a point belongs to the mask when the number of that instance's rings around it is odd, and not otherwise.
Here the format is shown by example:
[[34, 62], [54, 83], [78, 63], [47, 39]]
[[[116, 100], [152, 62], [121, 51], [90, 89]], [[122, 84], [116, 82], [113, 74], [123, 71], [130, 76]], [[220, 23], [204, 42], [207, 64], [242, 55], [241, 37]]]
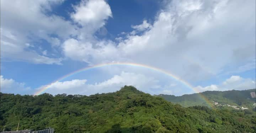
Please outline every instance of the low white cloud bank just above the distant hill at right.
[[199, 92], [203, 91], [226, 91], [231, 89], [244, 90], [256, 88], [256, 82], [251, 79], [245, 79], [240, 76], [231, 76], [226, 79], [220, 85], [209, 85], [206, 87], [197, 86], [196, 89]]

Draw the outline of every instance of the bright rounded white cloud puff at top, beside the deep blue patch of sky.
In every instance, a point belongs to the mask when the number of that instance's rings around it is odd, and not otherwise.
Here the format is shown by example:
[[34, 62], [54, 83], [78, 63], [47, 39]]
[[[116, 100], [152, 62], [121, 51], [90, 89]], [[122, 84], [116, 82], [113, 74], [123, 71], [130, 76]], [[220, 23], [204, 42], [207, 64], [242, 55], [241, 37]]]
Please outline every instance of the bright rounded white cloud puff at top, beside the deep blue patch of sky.
[[108, 17], [112, 17], [111, 8], [105, 0], [82, 0], [79, 5], [74, 6], [74, 10], [71, 18], [83, 27], [80, 29], [80, 39], [91, 37], [105, 25]]

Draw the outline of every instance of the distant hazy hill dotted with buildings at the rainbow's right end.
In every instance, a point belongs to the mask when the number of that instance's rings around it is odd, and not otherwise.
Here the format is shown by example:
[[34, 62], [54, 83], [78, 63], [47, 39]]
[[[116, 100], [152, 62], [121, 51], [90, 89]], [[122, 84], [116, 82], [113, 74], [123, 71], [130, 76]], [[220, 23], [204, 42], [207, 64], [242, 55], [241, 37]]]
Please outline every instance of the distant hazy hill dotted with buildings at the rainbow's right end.
[[[220, 104], [245, 106], [252, 109], [254, 108], [253, 104], [256, 99], [251, 97], [250, 92], [255, 92], [255, 89], [247, 89], [243, 91], [205, 91], [202, 93], [185, 94], [183, 96], [166, 94], [159, 94], [156, 96], [160, 96], [169, 102], [177, 103], [185, 107], [196, 105], [209, 106], [209, 103], [204, 99], [207, 98], [211, 104], [214, 101]], [[202, 98], [202, 96], [204, 98]]]

